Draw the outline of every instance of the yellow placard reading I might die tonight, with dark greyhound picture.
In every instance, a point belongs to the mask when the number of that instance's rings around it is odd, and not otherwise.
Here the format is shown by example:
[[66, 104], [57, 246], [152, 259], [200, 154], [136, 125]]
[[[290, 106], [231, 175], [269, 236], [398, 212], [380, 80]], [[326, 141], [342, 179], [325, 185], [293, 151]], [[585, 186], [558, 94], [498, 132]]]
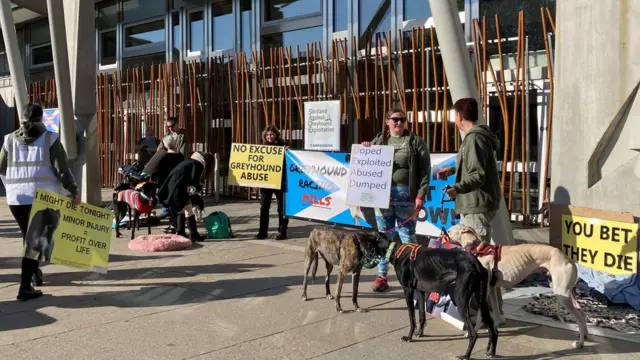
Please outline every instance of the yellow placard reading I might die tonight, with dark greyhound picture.
[[25, 257], [106, 273], [111, 249], [110, 211], [36, 190]]

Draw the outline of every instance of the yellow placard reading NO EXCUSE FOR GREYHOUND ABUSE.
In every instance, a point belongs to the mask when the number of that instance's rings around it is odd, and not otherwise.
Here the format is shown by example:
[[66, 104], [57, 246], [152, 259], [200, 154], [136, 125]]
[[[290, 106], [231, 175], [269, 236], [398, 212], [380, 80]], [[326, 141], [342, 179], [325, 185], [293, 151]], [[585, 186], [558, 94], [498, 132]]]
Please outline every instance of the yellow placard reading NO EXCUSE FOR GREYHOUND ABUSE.
[[231, 144], [229, 185], [280, 190], [284, 147]]

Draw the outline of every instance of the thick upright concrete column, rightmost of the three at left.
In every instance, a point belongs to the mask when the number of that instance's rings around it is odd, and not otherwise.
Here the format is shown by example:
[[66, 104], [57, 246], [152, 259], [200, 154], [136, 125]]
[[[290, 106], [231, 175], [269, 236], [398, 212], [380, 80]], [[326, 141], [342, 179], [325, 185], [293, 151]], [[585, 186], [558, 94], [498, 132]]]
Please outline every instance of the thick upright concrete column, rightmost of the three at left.
[[[79, 156], [73, 168], [82, 179], [82, 201], [100, 205], [100, 152], [96, 118], [96, 37], [94, 3], [63, 0], [76, 125], [81, 135]], [[79, 80], [79, 81], [78, 81]]]

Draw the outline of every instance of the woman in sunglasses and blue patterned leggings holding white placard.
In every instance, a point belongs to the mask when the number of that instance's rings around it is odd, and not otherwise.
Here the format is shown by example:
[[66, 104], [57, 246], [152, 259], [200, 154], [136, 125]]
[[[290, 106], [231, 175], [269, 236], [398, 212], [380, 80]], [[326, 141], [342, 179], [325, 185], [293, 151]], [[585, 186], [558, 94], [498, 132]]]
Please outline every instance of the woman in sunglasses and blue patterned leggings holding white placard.
[[[362, 143], [364, 147], [388, 145], [395, 149], [389, 208], [376, 209], [376, 223], [379, 231], [390, 231], [389, 239], [397, 231], [403, 243], [416, 241], [416, 215], [424, 205], [431, 175], [429, 148], [420, 136], [406, 128], [406, 123], [407, 116], [402, 109], [391, 109], [382, 133], [371, 142]], [[389, 263], [380, 259], [378, 276], [371, 286], [373, 291], [389, 289], [388, 271]]]

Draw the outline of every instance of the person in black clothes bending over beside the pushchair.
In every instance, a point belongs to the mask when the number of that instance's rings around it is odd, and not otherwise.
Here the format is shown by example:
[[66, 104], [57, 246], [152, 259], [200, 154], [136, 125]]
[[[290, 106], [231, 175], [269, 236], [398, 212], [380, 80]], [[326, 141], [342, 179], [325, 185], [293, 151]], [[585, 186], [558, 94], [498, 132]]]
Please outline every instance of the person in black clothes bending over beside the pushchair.
[[195, 152], [169, 173], [158, 191], [158, 199], [169, 208], [173, 223], [176, 224], [176, 234], [187, 237], [186, 222], [191, 241], [202, 241], [206, 237], [198, 233], [196, 216], [189, 202], [189, 186], [201, 192], [201, 180], [208, 177], [212, 164], [213, 155]]

